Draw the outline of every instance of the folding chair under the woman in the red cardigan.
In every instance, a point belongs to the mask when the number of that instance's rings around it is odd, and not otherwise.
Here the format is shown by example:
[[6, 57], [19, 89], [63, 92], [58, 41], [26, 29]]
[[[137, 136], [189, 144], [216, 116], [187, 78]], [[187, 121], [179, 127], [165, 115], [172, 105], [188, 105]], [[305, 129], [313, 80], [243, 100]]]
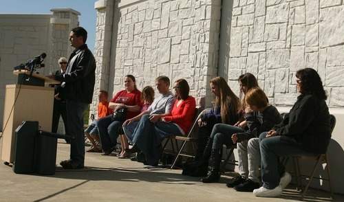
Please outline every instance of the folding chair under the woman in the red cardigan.
[[[182, 140], [184, 141], [182, 144], [182, 147], [179, 149], [178, 151], [178, 155], [175, 157], [173, 164], [171, 166], [171, 169], [173, 169], [175, 167], [175, 164], [177, 163], [178, 159], [180, 156], [184, 156], [184, 157], [195, 157], [195, 142], [197, 141], [197, 137], [194, 137], [193, 135], [193, 130], [195, 129], [195, 127], [198, 125], [197, 124], [197, 120], [200, 119], [200, 117], [204, 114], [204, 113], [208, 113], [211, 109], [204, 109], [202, 112], [200, 112], [200, 108], [196, 108], [195, 109], [195, 117], [193, 120], [193, 125], [190, 128], [190, 131], [188, 133], [188, 135], [186, 136], [172, 136], [171, 138], [175, 139], [176, 143], [177, 140]], [[183, 152], [183, 149], [186, 145], [186, 142], [191, 143], [191, 148], [192, 148], [192, 153], [187, 153], [187, 152]]]

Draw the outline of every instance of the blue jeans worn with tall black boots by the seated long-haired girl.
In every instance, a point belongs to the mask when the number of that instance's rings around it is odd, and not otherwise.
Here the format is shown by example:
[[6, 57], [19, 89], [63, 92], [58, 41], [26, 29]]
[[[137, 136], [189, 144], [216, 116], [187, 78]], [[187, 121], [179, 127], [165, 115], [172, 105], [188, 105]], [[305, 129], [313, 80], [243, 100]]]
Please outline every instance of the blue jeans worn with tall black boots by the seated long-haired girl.
[[224, 144], [234, 144], [232, 135], [234, 133], [244, 133], [244, 129], [228, 124], [215, 124], [213, 131], [211, 131], [211, 138], [213, 139], [213, 149], [222, 149]]

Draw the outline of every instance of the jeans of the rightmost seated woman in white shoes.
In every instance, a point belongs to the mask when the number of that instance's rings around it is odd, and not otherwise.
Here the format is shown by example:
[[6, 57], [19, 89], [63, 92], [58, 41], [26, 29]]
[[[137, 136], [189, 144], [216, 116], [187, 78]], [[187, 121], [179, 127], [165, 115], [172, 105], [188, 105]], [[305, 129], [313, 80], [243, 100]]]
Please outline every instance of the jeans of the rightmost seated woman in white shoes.
[[279, 164], [279, 157], [292, 157], [298, 155], [312, 156], [302, 148], [297, 148], [285, 142], [281, 142], [281, 136], [266, 137], [266, 133], [259, 135], [261, 152], [261, 179], [264, 188], [272, 190], [279, 186], [281, 176], [285, 170]]

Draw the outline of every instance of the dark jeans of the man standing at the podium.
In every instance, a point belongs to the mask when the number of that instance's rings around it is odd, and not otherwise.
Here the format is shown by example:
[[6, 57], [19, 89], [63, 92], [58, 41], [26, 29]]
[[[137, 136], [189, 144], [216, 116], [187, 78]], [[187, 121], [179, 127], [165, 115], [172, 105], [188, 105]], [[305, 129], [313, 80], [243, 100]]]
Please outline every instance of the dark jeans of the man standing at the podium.
[[83, 114], [88, 104], [74, 100], [66, 100], [68, 133], [74, 137], [70, 142], [70, 160], [79, 164], [85, 162], [85, 133]]

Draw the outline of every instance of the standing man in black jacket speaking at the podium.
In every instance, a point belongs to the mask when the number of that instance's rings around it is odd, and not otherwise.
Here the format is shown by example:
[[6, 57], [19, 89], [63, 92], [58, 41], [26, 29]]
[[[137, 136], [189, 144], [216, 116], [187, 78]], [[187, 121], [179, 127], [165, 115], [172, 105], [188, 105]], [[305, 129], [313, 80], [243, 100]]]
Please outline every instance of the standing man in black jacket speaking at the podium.
[[83, 27], [74, 27], [69, 34], [69, 41], [75, 50], [69, 56], [67, 69], [62, 76], [55, 76], [61, 81], [58, 97], [65, 98], [67, 108], [68, 133], [74, 137], [70, 142], [70, 158], [61, 161], [66, 169], [84, 168], [85, 135], [83, 112], [92, 102], [94, 82], [96, 80], [96, 60], [85, 44], [87, 31]]

